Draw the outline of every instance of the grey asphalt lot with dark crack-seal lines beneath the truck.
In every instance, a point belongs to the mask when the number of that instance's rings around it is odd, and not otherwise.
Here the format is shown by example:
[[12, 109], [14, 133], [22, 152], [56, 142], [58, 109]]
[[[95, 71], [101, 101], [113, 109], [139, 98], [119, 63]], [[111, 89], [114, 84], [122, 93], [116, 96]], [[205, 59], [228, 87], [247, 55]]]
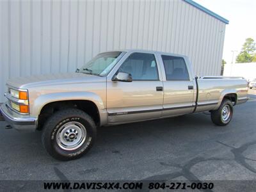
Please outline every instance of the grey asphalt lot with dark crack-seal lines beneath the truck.
[[200, 113], [100, 128], [93, 149], [70, 162], [52, 159], [40, 132], [4, 129], [0, 122], [0, 180], [256, 180], [256, 95], [251, 97], [235, 107], [227, 127]]

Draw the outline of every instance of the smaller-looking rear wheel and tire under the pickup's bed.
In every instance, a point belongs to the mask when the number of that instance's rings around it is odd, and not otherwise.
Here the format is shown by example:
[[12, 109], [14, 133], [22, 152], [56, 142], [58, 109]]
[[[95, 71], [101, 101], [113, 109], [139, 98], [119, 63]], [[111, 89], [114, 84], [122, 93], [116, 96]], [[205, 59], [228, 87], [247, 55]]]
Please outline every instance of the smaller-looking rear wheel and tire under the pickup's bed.
[[229, 124], [233, 116], [233, 104], [225, 99], [217, 110], [211, 111], [211, 120], [214, 124], [225, 126]]

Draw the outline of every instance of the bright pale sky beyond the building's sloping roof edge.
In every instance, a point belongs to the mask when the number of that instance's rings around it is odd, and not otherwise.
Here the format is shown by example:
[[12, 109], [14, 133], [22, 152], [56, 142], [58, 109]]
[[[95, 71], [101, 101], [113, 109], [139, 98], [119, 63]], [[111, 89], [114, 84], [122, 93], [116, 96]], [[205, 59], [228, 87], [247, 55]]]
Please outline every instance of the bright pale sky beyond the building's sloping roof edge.
[[229, 20], [226, 25], [223, 59], [234, 61], [246, 38], [256, 42], [256, 0], [194, 0], [196, 3]]

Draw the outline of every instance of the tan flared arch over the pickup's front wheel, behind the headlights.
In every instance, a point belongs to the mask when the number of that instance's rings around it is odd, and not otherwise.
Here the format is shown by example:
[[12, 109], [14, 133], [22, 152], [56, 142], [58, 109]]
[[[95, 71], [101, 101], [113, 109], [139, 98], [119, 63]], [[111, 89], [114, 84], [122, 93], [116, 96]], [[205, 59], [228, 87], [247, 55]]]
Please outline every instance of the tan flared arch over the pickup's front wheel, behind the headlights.
[[33, 104], [30, 104], [30, 114], [38, 116], [46, 104], [63, 100], [90, 100], [99, 110], [100, 124], [104, 124], [108, 119], [104, 102], [99, 95], [92, 92], [60, 92], [40, 95], [34, 100]]

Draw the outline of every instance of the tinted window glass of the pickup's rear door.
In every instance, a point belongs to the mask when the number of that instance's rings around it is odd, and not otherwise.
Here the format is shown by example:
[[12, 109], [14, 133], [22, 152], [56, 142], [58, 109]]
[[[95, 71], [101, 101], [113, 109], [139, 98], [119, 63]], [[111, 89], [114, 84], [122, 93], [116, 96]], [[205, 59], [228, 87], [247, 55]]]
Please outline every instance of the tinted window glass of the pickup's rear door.
[[162, 55], [166, 80], [189, 80], [188, 68], [183, 58]]

